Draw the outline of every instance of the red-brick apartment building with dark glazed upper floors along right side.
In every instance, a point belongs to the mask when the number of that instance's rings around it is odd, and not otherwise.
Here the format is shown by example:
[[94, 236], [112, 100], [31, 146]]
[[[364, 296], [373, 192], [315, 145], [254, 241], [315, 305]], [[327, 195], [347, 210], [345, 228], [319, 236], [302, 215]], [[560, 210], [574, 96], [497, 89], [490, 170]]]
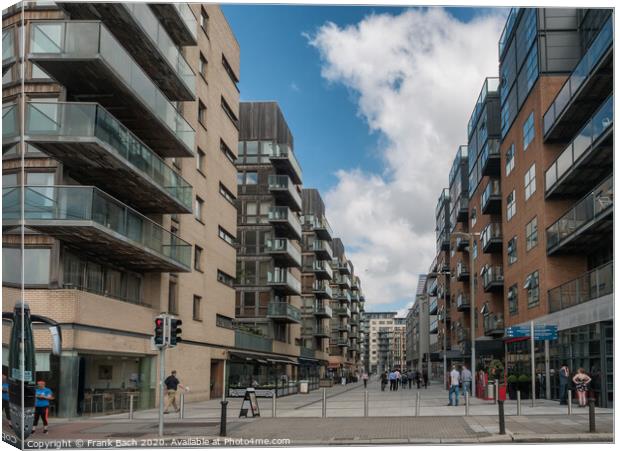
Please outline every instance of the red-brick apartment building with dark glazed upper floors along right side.
[[562, 363], [584, 367], [601, 406], [613, 402], [612, 20], [608, 9], [511, 10], [500, 77], [483, 83], [437, 204], [429, 272], [441, 287], [449, 249], [448, 341], [460, 358], [471, 314], [479, 367], [505, 358], [512, 374], [529, 374], [529, 341], [504, 328], [555, 325], [558, 340], [535, 349], [545, 390], [557, 397]]

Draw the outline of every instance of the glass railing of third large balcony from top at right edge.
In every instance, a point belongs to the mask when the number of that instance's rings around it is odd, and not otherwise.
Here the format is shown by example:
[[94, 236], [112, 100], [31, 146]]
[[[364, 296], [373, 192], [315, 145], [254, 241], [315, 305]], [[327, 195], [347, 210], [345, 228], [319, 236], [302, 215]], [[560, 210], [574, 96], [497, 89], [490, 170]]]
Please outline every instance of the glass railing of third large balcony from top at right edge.
[[610, 176], [547, 228], [547, 253], [574, 237], [587, 223], [607, 215], [614, 205], [614, 181]]

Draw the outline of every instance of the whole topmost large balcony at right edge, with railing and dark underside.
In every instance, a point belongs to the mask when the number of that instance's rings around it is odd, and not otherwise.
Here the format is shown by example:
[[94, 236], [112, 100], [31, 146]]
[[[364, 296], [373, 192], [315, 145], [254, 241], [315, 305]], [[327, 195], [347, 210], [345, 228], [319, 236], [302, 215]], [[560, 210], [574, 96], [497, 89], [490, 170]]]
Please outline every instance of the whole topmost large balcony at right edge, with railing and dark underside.
[[546, 141], [574, 135], [613, 90], [613, 14], [575, 66], [543, 117]]

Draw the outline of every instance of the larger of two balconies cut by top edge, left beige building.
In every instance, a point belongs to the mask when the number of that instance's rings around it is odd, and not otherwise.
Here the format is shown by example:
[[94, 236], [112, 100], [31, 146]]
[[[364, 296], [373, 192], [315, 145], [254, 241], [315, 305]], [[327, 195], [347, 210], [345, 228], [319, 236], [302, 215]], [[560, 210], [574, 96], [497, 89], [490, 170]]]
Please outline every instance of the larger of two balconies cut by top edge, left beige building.
[[194, 71], [146, 3], [59, 2], [58, 5], [72, 20], [101, 20], [170, 100], [195, 100]]

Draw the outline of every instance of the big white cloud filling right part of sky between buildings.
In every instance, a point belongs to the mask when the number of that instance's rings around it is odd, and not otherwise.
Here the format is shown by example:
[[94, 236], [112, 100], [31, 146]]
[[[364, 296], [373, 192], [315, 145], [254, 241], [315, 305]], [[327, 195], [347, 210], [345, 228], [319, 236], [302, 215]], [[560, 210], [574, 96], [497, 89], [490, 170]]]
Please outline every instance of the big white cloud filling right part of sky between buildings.
[[436, 200], [484, 78], [497, 74], [504, 21], [503, 11], [464, 23], [441, 8], [415, 9], [326, 23], [309, 38], [322, 76], [355, 94], [382, 137], [383, 168], [340, 170], [325, 196], [370, 309], [410, 304], [435, 256]]

